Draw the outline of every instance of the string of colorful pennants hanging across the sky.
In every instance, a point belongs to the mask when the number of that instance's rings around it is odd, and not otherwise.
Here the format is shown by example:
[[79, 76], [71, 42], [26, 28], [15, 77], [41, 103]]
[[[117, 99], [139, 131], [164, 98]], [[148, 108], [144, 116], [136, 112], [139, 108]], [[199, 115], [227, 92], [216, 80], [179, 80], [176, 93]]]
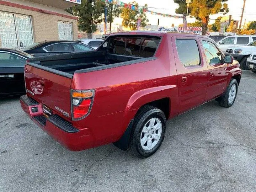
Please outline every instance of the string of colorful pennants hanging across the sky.
[[143, 6], [135, 6], [132, 4], [127, 4], [127, 3], [121, 2], [119, 0], [101, 0], [101, 1], [106, 2], [106, 3], [113, 3], [117, 6], [126, 7], [131, 10], [139, 10], [140, 12], [148, 12], [152, 15], [159, 15], [159, 16], [163, 16], [163, 17], [172, 17], [172, 18], [183, 18], [183, 16], [162, 14], [162, 13], [158, 13], [158, 12], [154, 12], [154, 11], [149, 11], [148, 9], [145, 9], [145, 7], [143, 7]]

